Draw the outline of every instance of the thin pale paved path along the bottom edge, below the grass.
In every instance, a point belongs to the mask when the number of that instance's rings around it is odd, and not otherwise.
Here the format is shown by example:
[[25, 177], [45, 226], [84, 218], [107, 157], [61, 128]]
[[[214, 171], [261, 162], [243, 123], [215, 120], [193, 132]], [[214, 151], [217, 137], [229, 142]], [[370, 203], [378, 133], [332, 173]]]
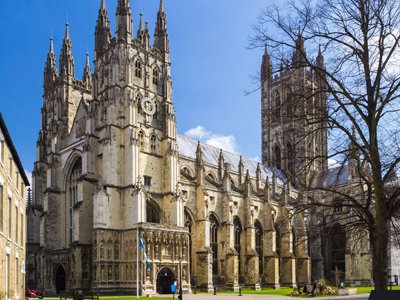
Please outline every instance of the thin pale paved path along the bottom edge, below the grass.
[[[368, 300], [369, 294], [354, 295], [354, 296], [335, 296], [335, 297], [315, 297], [315, 298], [300, 298], [300, 297], [286, 297], [286, 296], [272, 296], [272, 295], [243, 295], [239, 297], [238, 295], [208, 295], [208, 294], [197, 294], [197, 295], [183, 295], [183, 300], [296, 300], [296, 299], [315, 299], [315, 300]], [[151, 298], [150, 298], [151, 299]], [[175, 297], [177, 299], [177, 297]]]

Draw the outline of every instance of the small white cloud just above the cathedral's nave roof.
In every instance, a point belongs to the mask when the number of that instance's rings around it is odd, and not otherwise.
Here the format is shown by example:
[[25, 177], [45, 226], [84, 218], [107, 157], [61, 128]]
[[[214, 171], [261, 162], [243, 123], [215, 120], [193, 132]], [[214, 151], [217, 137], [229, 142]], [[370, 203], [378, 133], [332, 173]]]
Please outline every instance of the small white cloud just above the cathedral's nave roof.
[[237, 153], [236, 139], [233, 135], [222, 135], [206, 130], [205, 127], [198, 125], [189, 129], [185, 135], [198, 139], [200, 142], [210, 146], [223, 149], [228, 152]]

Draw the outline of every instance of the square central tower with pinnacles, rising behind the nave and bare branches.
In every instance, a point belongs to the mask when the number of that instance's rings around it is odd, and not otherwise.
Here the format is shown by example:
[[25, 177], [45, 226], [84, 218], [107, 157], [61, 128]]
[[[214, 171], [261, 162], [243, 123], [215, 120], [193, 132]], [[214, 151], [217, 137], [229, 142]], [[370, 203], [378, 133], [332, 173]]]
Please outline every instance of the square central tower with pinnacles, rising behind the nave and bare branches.
[[[319, 51], [317, 66], [325, 68]], [[308, 184], [326, 169], [327, 99], [324, 80], [306, 68], [304, 40], [299, 35], [291, 63], [277, 75], [268, 49], [261, 66], [262, 162], [282, 170], [293, 183]]]

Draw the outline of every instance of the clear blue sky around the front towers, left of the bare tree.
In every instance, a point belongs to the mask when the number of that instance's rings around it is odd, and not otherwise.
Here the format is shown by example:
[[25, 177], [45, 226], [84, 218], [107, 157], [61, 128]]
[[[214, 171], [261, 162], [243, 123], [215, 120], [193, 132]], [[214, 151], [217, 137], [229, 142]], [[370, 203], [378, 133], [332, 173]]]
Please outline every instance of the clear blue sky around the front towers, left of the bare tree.
[[[266, 0], [164, 0], [172, 58], [178, 132], [247, 157], [260, 157], [260, 92], [255, 85], [262, 49], [247, 39]], [[107, 0], [115, 32], [117, 0]], [[251, 4], [249, 4], [251, 3]], [[131, 1], [134, 31], [139, 13], [153, 33], [159, 0]], [[0, 111], [26, 170], [35, 161], [40, 128], [43, 68], [52, 33], [57, 58], [70, 24], [75, 76], [85, 53], [93, 58], [100, 0], [0, 1]]]

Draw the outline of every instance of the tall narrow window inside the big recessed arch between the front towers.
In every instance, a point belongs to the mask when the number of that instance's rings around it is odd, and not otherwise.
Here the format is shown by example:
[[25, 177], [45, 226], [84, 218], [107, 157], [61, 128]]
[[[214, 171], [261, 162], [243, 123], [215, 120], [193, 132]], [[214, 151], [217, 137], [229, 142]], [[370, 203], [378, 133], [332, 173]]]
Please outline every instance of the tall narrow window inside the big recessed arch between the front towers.
[[82, 159], [78, 158], [68, 177], [69, 193], [69, 242], [74, 241], [74, 207], [78, 203], [78, 180], [82, 175]]

